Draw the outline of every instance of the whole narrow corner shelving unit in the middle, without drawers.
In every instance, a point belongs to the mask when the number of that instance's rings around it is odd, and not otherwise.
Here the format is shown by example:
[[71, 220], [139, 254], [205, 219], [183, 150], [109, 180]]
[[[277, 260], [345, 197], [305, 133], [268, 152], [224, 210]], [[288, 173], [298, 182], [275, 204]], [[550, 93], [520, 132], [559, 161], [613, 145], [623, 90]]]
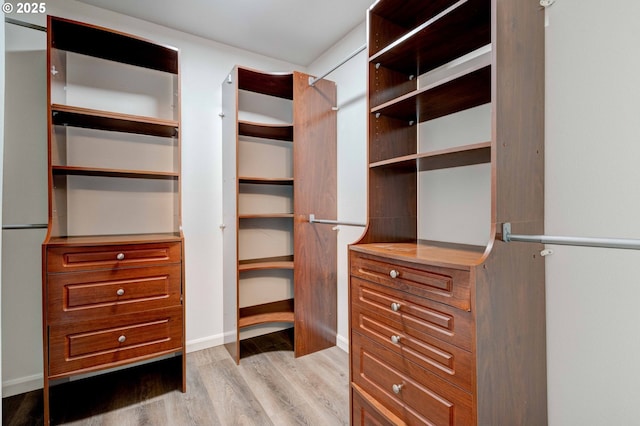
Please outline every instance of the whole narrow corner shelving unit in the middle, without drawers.
[[336, 236], [308, 217], [336, 215], [335, 84], [237, 66], [222, 92], [225, 345], [239, 363], [293, 325], [296, 356], [333, 346]]

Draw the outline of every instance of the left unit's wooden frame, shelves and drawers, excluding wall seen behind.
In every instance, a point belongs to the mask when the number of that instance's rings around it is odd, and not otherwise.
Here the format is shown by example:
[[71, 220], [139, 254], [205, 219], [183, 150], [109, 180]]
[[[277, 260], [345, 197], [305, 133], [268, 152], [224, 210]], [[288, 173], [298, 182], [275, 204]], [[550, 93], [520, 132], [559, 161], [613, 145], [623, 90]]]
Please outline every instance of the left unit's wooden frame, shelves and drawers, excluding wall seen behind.
[[[66, 84], [66, 52], [171, 74], [179, 94], [178, 51], [148, 40], [68, 19], [48, 17], [47, 69]], [[96, 372], [163, 355], [182, 355], [186, 392], [184, 242], [180, 231], [180, 108], [174, 120], [52, 103], [48, 75], [49, 226], [42, 245], [44, 423], [50, 423], [52, 379]], [[63, 126], [166, 138], [177, 147], [175, 170], [122, 170], [52, 163]], [[67, 233], [68, 175], [176, 182], [174, 228], [127, 235]], [[98, 229], [99, 227], [96, 227]], [[96, 232], [99, 234], [100, 232]], [[120, 255], [120, 256], [119, 256]]]

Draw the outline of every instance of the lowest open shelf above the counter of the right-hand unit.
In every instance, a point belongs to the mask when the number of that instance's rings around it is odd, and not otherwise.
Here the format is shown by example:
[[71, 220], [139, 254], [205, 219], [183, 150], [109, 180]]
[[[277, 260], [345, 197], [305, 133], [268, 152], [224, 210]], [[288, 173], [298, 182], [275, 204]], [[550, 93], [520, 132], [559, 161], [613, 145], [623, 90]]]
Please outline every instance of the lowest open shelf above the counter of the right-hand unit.
[[377, 161], [371, 163], [369, 167], [372, 169], [382, 167], [406, 168], [424, 172], [490, 162], [491, 142], [483, 142]]

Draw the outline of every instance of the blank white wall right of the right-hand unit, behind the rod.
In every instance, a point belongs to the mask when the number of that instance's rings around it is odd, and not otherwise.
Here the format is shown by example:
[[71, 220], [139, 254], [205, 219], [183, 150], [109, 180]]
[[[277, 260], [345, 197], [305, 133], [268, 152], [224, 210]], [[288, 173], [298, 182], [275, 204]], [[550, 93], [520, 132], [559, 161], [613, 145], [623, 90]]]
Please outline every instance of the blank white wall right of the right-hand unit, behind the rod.
[[[640, 3], [547, 13], [546, 233], [640, 238]], [[549, 248], [549, 423], [639, 424], [640, 251]]]

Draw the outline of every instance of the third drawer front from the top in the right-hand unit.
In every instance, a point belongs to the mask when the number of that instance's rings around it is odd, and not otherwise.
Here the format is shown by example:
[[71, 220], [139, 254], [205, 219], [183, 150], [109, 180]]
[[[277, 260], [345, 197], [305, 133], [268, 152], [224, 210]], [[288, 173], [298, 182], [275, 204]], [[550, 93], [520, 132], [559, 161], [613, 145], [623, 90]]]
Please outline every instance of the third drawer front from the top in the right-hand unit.
[[[357, 288], [355, 294], [365, 297], [371, 290], [358, 285], [361, 280], [352, 279]], [[366, 285], [366, 283], [365, 283]], [[352, 290], [352, 294], [354, 291]], [[403, 301], [405, 306], [406, 302]], [[351, 326], [376, 343], [403, 356], [419, 366], [437, 374], [468, 392], [472, 390], [472, 355], [450, 343], [423, 333], [420, 328], [412, 328], [403, 323], [402, 313], [386, 312], [378, 306], [354, 303], [351, 307]], [[446, 316], [447, 314], [442, 314]], [[454, 318], [449, 321], [454, 323]]]

